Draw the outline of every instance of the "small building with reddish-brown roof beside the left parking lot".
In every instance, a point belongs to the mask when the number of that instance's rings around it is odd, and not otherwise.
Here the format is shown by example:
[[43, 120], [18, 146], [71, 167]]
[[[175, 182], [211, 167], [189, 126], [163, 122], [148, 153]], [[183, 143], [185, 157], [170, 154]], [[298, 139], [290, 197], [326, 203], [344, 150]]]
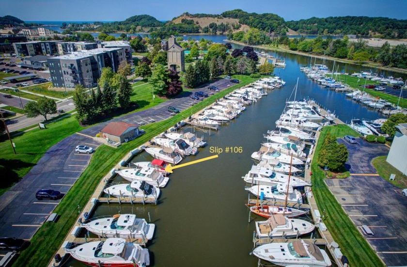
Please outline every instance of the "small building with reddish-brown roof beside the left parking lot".
[[123, 143], [140, 135], [139, 126], [125, 122], [111, 122], [100, 131], [100, 135], [109, 141]]

